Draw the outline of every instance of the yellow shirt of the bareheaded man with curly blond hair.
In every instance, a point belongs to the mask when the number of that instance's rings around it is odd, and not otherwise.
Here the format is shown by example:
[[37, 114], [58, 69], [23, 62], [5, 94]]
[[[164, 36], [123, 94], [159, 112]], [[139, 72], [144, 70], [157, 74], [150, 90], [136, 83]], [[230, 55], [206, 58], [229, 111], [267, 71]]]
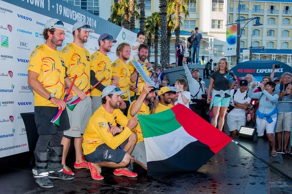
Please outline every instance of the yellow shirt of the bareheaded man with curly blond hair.
[[115, 60], [112, 64], [112, 76], [119, 77], [119, 88], [121, 91], [125, 92], [123, 96], [124, 100], [129, 100], [129, 85], [130, 85], [130, 70], [127, 64], [125, 64], [121, 59]]

